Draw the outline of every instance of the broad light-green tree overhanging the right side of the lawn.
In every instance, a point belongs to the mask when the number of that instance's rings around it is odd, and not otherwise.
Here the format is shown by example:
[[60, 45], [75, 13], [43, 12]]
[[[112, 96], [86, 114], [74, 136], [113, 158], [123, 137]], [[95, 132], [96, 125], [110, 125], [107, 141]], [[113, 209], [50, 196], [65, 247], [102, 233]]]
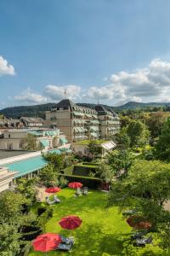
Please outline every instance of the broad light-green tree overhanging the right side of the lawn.
[[[153, 226], [159, 224], [163, 203], [170, 199], [170, 164], [159, 160], [134, 162], [122, 182], [113, 183], [110, 203], [139, 207]], [[133, 203], [132, 203], [133, 202]]]

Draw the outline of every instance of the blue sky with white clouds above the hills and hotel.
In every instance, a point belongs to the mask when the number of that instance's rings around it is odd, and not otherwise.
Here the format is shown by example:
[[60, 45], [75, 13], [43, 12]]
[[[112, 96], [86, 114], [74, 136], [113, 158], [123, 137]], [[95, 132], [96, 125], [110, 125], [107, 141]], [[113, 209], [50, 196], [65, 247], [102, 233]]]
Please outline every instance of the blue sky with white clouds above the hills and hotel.
[[0, 109], [170, 102], [169, 0], [1, 0]]

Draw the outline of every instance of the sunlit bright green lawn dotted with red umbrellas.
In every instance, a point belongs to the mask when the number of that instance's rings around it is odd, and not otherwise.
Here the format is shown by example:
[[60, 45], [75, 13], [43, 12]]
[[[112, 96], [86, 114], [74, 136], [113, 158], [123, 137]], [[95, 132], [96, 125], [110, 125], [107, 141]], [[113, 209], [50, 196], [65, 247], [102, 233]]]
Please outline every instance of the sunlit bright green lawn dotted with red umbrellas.
[[[46, 231], [74, 236], [75, 244], [71, 253], [48, 252], [48, 256], [165, 255], [156, 246], [156, 241], [154, 246], [133, 247], [130, 240], [131, 228], [116, 207], [105, 208], [107, 195], [104, 192], [90, 191], [88, 196], [75, 198], [73, 189], [63, 189], [58, 195], [62, 202], [51, 206], [54, 208], [54, 216], [48, 221]], [[59, 219], [69, 214], [76, 214], [82, 218], [82, 225], [77, 230], [60, 228]], [[29, 255], [45, 254], [32, 251]]]

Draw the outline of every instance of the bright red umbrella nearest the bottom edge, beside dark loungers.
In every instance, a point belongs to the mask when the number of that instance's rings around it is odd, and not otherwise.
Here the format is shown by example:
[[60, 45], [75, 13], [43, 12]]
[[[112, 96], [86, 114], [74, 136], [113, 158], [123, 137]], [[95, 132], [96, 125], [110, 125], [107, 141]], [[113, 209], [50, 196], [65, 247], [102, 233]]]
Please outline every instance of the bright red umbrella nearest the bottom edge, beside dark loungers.
[[35, 251], [48, 252], [56, 249], [60, 241], [62, 241], [62, 239], [59, 235], [53, 233], [46, 233], [37, 236], [37, 238], [32, 242], [32, 246], [34, 247]]

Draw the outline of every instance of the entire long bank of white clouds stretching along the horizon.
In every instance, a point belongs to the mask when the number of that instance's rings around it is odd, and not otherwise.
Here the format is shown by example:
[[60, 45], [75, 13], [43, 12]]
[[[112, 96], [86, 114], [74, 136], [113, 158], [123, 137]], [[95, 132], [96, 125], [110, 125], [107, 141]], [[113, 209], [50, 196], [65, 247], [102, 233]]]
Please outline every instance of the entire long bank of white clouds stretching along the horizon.
[[82, 89], [78, 85], [45, 86], [43, 95], [25, 90], [20, 96], [14, 96], [16, 102], [39, 104], [59, 102], [65, 98], [75, 102], [99, 102], [120, 105], [125, 102], [170, 102], [170, 62], [154, 59], [147, 67], [133, 72], [119, 72], [105, 79], [103, 86], [91, 86]]

